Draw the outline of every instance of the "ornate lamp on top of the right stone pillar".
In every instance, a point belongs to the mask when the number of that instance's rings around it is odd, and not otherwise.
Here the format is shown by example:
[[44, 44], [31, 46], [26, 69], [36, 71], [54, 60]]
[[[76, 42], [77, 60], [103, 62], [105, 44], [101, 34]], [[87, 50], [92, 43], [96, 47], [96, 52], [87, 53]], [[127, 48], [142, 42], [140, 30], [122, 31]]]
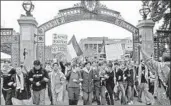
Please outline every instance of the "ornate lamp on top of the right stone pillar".
[[142, 9], [139, 10], [139, 13], [143, 16], [143, 20], [147, 19], [147, 15], [150, 13], [150, 8], [147, 5], [147, 1], [142, 1]]

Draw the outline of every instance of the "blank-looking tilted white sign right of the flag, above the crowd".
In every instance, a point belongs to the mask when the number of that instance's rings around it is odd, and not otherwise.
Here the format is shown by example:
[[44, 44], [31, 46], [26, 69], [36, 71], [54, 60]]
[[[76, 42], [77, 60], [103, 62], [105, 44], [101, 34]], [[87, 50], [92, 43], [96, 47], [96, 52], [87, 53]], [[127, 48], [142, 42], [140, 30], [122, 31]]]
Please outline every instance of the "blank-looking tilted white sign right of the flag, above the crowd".
[[106, 60], [121, 59], [124, 54], [120, 43], [105, 45]]

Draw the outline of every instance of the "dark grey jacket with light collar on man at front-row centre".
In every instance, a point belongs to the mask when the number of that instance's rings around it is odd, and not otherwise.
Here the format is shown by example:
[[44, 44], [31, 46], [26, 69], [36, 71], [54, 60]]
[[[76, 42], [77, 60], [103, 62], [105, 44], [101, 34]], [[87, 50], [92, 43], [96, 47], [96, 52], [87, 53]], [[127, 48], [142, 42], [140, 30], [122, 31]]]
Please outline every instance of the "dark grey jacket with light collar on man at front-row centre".
[[94, 89], [94, 84], [93, 84], [93, 71], [90, 70], [90, 72], [87, 72], [86, 68], [83, 68], [81, 70], [81, 77], [83, 79], [82, 81], [82, 90], [84, 92], [90, 93]]

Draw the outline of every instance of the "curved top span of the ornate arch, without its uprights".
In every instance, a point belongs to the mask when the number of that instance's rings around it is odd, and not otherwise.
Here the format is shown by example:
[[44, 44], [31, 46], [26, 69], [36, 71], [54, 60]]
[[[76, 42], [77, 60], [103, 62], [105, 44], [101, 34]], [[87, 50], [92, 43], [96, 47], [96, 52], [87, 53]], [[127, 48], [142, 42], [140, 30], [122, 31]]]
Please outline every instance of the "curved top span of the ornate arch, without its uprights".
[[[91, 1], [89, 1], [91, 2]], [[138, 33], [138, 28], [126, 22], [119, 12], [107, 9], [98, 1], [93, 11], [85, 7], [84, 2], [75, 5], [75, 7], [59, 10], [54, 19], [43, 23], [38, 27], [38, 33], [45, 33], [54, 27], [81, 20], [96, 20], [111, 23], [128, 30], [131, 33]]]

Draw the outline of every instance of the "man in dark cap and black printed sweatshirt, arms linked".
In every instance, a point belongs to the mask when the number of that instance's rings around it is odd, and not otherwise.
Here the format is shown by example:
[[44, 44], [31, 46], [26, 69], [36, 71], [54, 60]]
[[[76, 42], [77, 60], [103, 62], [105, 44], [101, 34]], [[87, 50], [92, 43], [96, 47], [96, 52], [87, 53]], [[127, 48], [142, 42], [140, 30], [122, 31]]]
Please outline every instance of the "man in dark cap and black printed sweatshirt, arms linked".
[[45, 105], [45, 89], [49, 82], [48, 72], [41, 67], [39, 60], [35, 60], [34, 67], [29, 72], [29, 81], [32, 84], [33, 104]]

